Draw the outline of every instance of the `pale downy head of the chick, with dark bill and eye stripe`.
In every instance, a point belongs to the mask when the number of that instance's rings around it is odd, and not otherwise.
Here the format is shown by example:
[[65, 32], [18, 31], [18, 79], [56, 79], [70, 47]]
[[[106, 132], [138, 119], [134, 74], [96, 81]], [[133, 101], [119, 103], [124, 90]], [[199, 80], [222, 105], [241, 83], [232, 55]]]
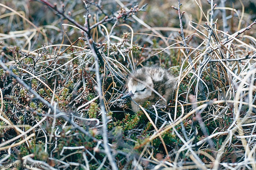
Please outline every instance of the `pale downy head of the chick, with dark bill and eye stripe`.
[[146, 73], [143, 75], [133, 75], [128, 79], [128, 93], [121, 99], [131, 97], [134, 101], [147, 100], [151, 96], [153, 81]]

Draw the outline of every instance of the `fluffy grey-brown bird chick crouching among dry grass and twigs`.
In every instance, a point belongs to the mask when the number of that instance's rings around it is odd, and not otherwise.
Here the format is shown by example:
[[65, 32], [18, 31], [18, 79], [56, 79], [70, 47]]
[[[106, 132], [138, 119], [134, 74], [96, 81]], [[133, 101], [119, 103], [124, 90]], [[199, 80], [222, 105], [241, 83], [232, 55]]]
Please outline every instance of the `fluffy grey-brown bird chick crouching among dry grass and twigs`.
[[[127, 81], [128, 93], [121, 99], [131, 97], [138, 104], [149, 101], [165, 106], [172, 99], [177, 78], [168, 70], [160, 67], [142, 67], [132, 73]], [[158, 93], [158, 94], [157, 94]], [[140, 107], [131, 101], [132, 110], [138, 112]]]

